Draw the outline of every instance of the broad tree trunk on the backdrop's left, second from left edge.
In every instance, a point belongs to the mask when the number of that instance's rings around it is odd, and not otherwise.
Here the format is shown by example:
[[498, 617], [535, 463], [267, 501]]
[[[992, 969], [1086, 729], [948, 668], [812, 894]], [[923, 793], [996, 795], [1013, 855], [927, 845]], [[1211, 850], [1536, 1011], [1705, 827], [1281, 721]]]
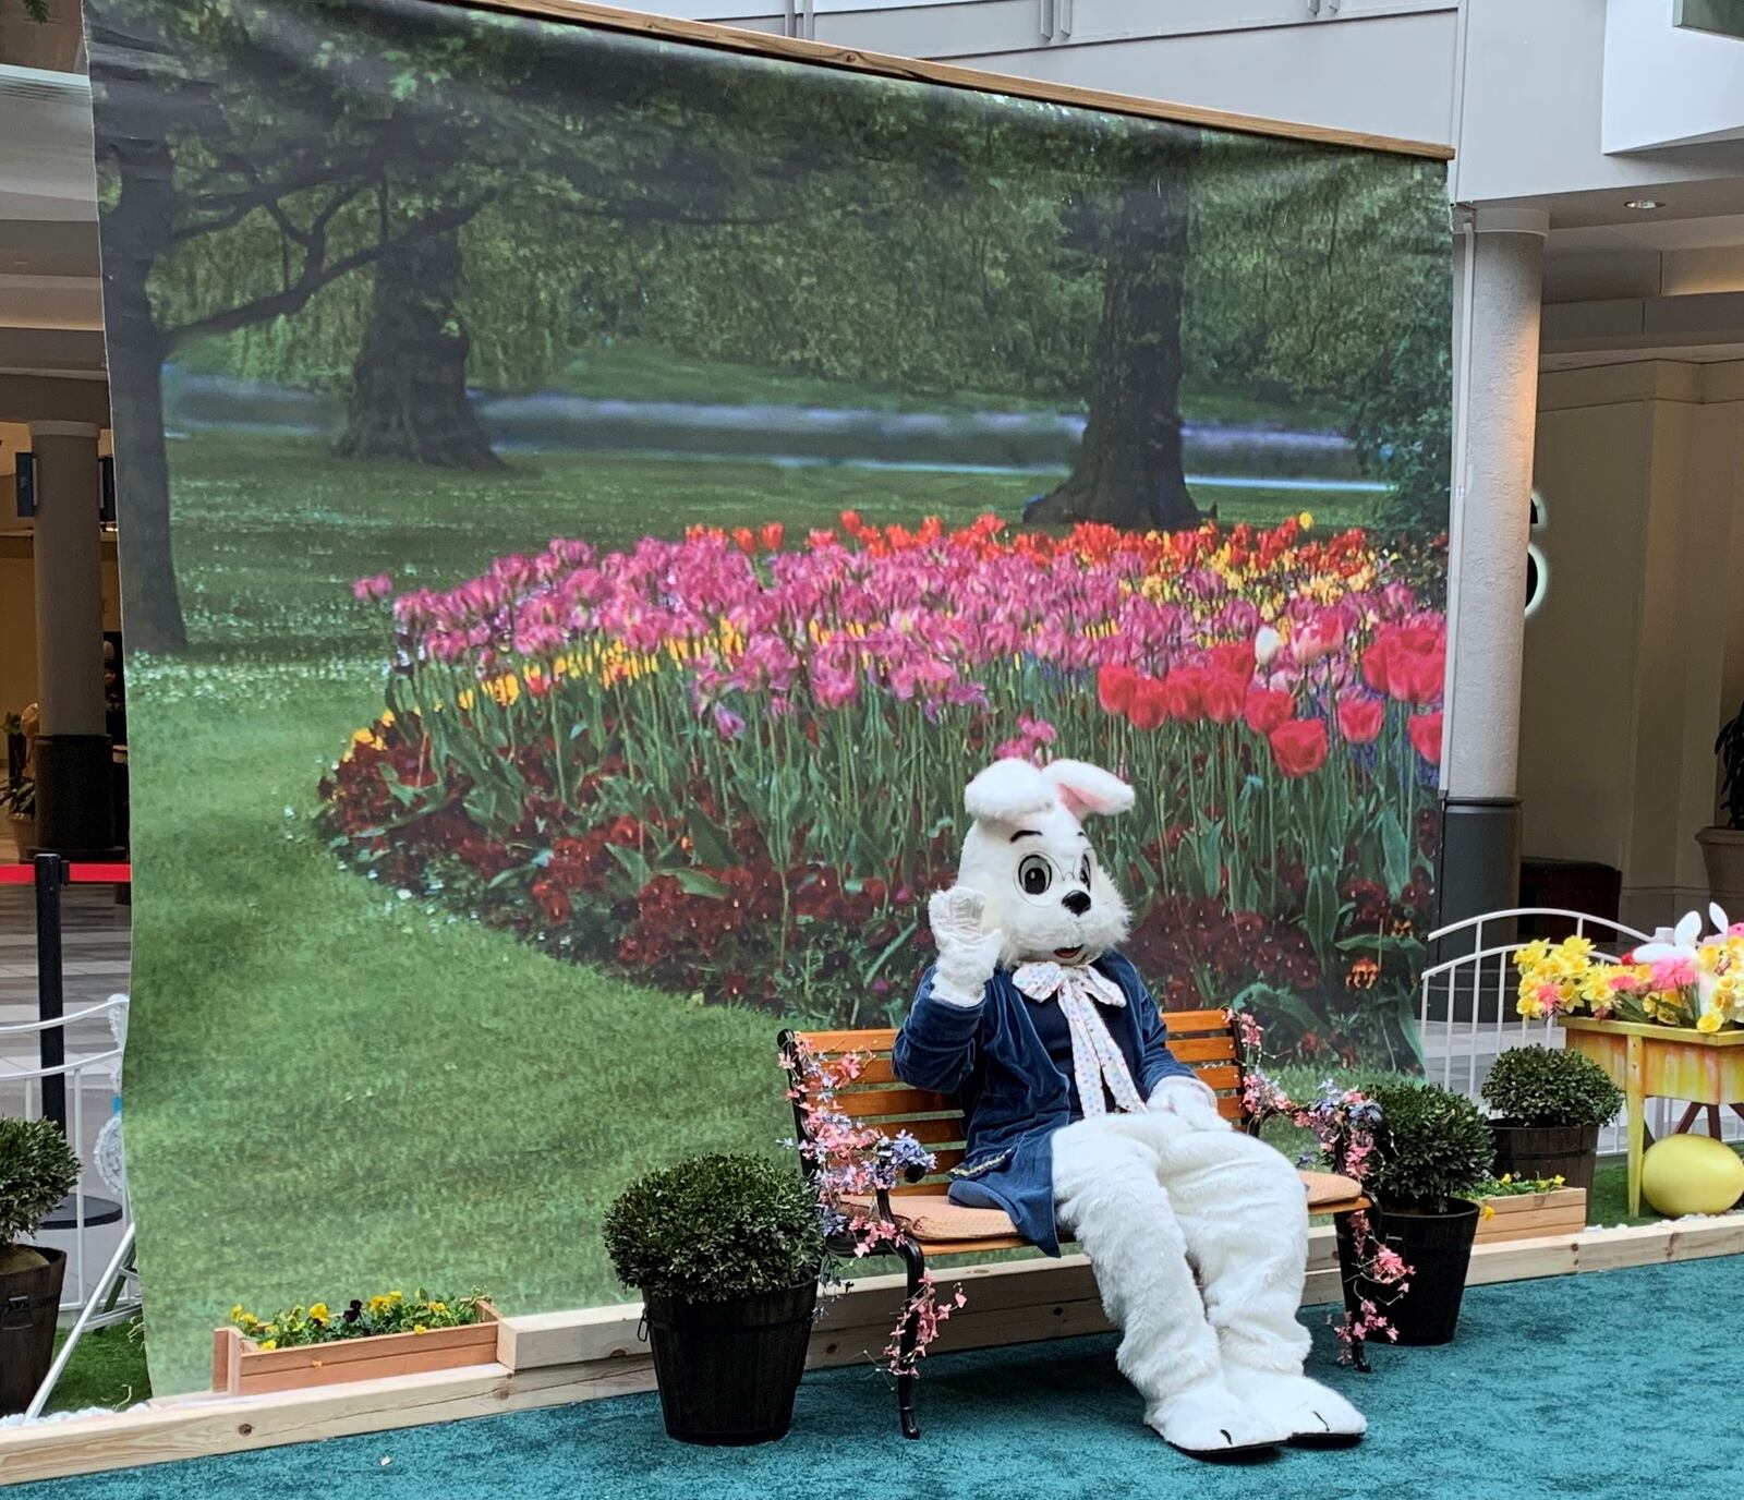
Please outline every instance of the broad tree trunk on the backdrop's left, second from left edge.
[[445, 469], [499, 464], [466, 394], [471, 338], [455, 307], [459, 291], [459, 230], [384, 246], [340, 457]]

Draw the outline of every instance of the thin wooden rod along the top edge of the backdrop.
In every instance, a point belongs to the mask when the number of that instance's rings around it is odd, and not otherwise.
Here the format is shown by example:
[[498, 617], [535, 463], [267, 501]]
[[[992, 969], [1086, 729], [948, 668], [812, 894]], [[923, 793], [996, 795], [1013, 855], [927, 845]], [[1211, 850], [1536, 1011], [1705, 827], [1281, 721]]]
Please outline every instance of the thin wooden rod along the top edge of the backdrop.
[[752, 52], [790, 63], [814, 63], [825, 68], [844, 68], [853, 73], [907, 78], [914, 84], [940, 84], [947, 89], [1010, 94], [1018, 99], [1038, 99], [1046, 105], [1107, 110], [1116, 115], [1139, 115], [1149, 120], [1172, 120], [1182, 126], [1207, 126], [1217, 131], [1236, 131], [1250, 136], [1280, 136], [1292, 141], [1313, 141], [1324, 147], [1353, 147], [1366, 152], [1428, 157], [1441, 162], [1453, 160], [1453, 147], [1439, 141], [1411, 141], [1399, 136], [1376, 136], [1367, 131], [1339, 131], [1331, 126], [1268, 120], [1263, 115], [1240, 115], [1231, 110], [1210, 110], [1202, 105], [1172, 105], [1163, 99], [1142, 99], [1137, 94], [1085, 89], [1076, 84], [1055, 84], [1046, 78], [1020, 78], [1013, 73], [985, 73], [978, 68], [959, 68], [954, 63], [896, 58], [889, 52], [863, 52], [858, 47], [834, 47], [828, 42], [776, 37], [769, 31], [746, 31], [738, 26], [717, 26], [708, 21], [680, 21], [671, 16], [617, 10], [612, 5], [593, 5], [589, 0], [433, 0], [433, 3], [457, 5], [466, 10], [501, 10], [541, 21], [595, 26], [605, 31], [635, 31], [664, 42], [689, 42], [698, 47], [715, 47], [726, 52]]

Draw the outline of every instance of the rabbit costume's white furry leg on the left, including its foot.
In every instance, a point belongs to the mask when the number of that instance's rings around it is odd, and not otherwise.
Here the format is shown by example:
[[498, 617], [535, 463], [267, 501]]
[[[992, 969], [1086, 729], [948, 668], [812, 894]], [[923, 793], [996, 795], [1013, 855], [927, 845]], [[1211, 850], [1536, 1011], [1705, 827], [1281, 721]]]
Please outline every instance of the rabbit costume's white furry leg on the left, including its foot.
[[1053, 1137], [1055, 1214], [1090, 1256], [1102, 1306], [1121, 1329], [1116, 1362], [1144, 1397], [1146, 1422], [1186, 1453], [1282, 1442], [1287, 1427], [1224, 1388], [1156, 1149], [1123, 1125], [1081, 1120]]

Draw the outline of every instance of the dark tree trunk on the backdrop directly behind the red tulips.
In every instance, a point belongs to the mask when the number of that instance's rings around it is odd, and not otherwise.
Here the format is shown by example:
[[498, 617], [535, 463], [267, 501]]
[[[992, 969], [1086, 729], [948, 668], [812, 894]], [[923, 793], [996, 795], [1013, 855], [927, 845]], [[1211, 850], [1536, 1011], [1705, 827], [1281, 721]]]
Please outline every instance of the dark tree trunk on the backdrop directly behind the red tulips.
[[1181, 466], [1188, 197], [1181, 162], [1121, 199], [1107, 232], [1090, 419], [1071, 474], [1025, 520], [1165, 532], [1198, 525]]

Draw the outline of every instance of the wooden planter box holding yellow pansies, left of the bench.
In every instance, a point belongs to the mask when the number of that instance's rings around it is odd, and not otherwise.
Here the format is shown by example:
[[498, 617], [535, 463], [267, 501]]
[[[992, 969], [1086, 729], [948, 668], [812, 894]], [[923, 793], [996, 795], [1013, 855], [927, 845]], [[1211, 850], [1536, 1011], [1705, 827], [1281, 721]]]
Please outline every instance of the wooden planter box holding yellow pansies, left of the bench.
[[263, 1350], [237, 1329], [220, 1327], [213, 1331], [213, 1390], [263, 1395], [272, 1390], [305, 1390], [352, 1380], [495, 1364], [499, 1313], [490, 1303], [480, 1303], [478, 1308], [480, 1320], [467, 1327], [389, 1333], [298, 1348]]

